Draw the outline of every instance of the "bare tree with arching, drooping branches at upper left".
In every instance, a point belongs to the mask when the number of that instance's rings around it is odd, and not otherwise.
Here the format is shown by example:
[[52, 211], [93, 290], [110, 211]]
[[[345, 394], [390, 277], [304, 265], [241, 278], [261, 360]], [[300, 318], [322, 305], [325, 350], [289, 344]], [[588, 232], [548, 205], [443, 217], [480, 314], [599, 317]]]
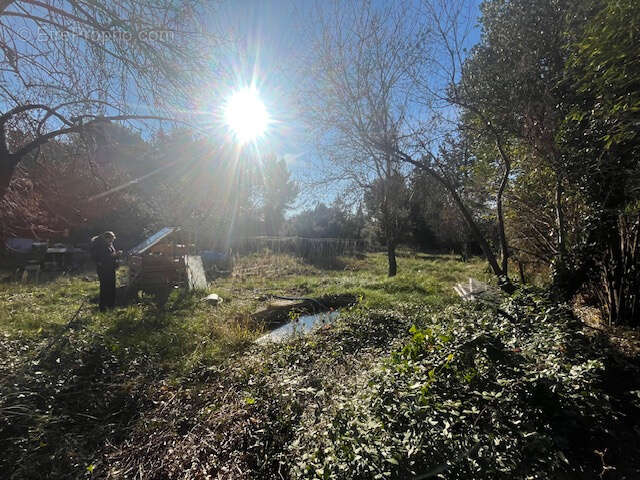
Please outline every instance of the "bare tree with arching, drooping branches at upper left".
[[[0, 2], [0, 198], [50, 139], [184, 118], [212, 38], [195, 0]], [[14, 135], [18, 132], [19, 135]], [[15, 141], [20, 138], [20, 141]]]

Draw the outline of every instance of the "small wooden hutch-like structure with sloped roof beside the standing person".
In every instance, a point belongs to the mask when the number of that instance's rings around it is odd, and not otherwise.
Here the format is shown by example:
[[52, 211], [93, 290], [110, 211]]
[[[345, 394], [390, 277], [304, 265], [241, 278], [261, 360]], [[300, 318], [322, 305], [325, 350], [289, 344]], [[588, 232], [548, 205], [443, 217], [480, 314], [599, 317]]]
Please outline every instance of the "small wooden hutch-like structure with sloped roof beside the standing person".
[[165, 227], [128, 252], [129, 286], [157, 291], [180, 286], [204, 290], [207, 280], [202, 260], [180, 227]]

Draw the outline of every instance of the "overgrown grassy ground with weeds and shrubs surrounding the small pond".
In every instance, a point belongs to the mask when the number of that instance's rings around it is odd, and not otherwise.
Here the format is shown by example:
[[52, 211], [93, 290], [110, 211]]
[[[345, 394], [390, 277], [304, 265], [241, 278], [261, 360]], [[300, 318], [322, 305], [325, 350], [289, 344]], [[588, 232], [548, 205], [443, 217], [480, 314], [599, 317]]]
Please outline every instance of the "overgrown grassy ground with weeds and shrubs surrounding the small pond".
[[[462, 304], [479, 260], [385, 272], [254, 255], [217, 307], [176, 291], [105, 314], [93, 276], [1, 284], [2, 478], [640, 477], [637, 359], [539, 291]], [[335, 293], [360, 302], [253, 344], [269, 295]]]

